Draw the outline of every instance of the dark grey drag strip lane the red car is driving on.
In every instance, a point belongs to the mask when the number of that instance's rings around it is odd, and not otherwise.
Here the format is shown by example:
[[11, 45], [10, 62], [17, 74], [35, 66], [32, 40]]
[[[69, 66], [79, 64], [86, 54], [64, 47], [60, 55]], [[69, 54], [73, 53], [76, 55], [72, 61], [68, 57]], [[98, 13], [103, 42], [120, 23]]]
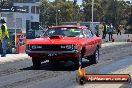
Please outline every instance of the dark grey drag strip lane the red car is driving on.
[[[119, 59], [124, 59], [123, 57], [131, 55], [131, 46], [132, 44], [125, 44], [102, 48], [99, 64], [86, 68], [89, 69], [89, 72], [91, 68], [91, 71], [98, 73], [98, 67], [102, 68], [111, 61], [118, 61]], [[70, 66], [65, 71], [63, 66], [61, 69], [50, 69], [50, 66], [44, 63], [41, 70], [33, 70], [31, 65], [31, 60], [0, 65], [0, 88], [52, 88], [51, 84], [56, 85], [54, 88], [66, 88], [67, 85], [72, 86], [76, 84], [76, 72], [75, 70], [69, 70]], [[11, 71], [14, 72], [9, 73]], [[9, 74], [3, 74], [4, 72]]]

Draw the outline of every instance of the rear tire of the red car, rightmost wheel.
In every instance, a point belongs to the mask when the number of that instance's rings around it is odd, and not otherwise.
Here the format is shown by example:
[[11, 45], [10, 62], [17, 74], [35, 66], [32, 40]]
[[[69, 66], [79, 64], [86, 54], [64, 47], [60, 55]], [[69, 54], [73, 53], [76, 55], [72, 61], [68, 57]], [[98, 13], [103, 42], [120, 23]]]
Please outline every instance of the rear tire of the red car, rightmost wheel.
[[97, 64], [99, 61], [99, 48], [97, 48], [94, 52], [94, 54], [90, 57], [88, 57], [90, 64]]

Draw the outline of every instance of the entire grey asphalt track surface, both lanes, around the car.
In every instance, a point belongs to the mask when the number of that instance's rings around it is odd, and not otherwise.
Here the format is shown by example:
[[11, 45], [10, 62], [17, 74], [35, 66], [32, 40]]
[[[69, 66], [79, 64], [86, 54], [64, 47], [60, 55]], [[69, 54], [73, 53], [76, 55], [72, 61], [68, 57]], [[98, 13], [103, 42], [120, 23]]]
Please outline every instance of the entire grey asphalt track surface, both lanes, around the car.
[[[83, 61], [90, 74], [107, 74], [129, 65], [132, 65], [132, 43], [101, 48], [98, 64]], [[0, 88], [92, 88], [78, 85], [76, 72], [72, 62], [60, 62], [57, 66], [44, 62], [39, 70], [33, 70], [31, 59], [4, 63], [0, 64]]]

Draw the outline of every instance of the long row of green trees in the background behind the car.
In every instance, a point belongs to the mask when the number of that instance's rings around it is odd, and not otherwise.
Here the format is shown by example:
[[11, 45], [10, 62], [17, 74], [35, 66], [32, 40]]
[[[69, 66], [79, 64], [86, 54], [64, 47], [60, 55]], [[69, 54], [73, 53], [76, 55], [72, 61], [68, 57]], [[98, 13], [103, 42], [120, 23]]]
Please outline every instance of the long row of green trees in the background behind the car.
[[[122, 24], [131, 17], [131, 6], [123, 0], [94, 0], [94, 21]], [[83, 7], [83, 9], [82, 9]], [[92, 0], [85, 0], [82, 6], [70, 0], [42, 0], [40, 21], [43, 25], [62, 22], [91, 21]], [[48, 9], [47, 9], [48, 8]]]

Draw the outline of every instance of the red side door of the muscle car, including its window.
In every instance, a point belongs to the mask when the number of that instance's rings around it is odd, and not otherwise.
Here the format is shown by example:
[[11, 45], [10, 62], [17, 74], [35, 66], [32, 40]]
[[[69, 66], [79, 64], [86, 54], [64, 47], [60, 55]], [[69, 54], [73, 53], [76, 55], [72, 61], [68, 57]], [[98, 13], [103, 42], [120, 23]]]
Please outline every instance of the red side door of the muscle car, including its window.
[[94, 34], [90, 29], [86, 29], [86, 38], [87, 38], [87, 55], [92, 55], [95, 52], [95, 38]]

